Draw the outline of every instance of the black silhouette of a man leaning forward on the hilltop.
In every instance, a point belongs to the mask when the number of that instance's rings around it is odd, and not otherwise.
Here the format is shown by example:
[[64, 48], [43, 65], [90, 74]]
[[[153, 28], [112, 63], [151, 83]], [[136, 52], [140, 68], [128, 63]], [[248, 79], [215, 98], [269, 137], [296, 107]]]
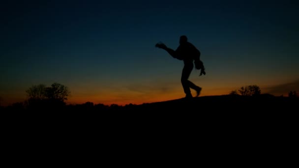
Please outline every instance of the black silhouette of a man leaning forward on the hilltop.
[[[174, 58], [184, 61], [184, 67], [181, 73], [180, 81], [183, 86], [184, 92], [186, 94], [185, 98], [192, 98], [190, 88], [196, 90], [197, 93], [196, 97], [198, 97], [202, 88], [193, 84], [191, 81], [188, 80], [188, 78], [193, 70], [193, 60], [195, 59], [196, 56], [200, 56], [200, 51], [193, 44], [188, 42], [187, 36], [185, 35], [180, 36], [179, 47], [177, 48], [176, 51], [168, 48], [163, 43], [156, 44], [156, 47], [164, 49]], [[204, 70], [204, 68], [202, 70]]]

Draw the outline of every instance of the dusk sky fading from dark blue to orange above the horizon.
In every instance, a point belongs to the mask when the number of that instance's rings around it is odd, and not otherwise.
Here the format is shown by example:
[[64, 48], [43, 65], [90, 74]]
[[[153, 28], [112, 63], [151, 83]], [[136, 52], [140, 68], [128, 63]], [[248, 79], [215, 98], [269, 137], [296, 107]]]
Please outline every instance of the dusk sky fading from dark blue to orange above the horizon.
[[[1, 105], [32, 85], [63, 84], [67, 103], [142, 104], [185, 96], [179, 36], [201, 51], [200, 96], [256, 84], [299, 93], [298, 0], [7, 0], [0, 2]], [[195, 95], [195, 91], [192, 90]]]

